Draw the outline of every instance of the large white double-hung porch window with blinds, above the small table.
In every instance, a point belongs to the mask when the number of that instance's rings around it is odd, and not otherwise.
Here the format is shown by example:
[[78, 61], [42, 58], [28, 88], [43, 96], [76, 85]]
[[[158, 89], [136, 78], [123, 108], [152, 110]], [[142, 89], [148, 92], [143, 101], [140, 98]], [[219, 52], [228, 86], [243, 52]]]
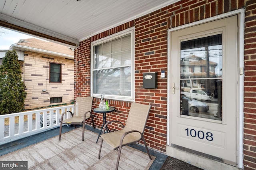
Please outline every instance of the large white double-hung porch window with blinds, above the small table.
[[95, 97], [132, 100], [134, 80], [133, 29], [92, 42], [92, 85]]

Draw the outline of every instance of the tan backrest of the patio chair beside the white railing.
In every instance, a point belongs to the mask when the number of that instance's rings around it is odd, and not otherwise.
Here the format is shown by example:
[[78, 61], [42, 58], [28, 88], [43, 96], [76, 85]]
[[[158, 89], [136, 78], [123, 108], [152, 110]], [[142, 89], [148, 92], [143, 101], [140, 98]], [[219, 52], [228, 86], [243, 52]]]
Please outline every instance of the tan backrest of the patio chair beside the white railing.
[[76, 97], [74, 115], [84, 116], [87, 111], [92, 111], [93, 97]]

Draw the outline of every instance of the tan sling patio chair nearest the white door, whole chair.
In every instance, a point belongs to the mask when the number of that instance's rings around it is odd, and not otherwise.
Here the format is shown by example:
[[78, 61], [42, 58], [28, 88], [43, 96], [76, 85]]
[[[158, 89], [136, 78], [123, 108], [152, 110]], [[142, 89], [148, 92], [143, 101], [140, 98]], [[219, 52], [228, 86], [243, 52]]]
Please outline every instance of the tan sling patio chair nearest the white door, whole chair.
[[[107, 142], [107, 144], [112, 146], [114, 150], [119, 149], [118, 157], [116, 161], [116, 170], [117, 170], [122, 146], [126, 146], [128, 144], [138, 142], [139, 140], [142, 139], [145, 144], [146, 150], [148, 152], [148, 157], [151, 160], [152, 158], [150, 156], [146, 141], [143, 136], [144, 130], [146, 127], [146, 122], [148, 120], [150, 108], [151, 108], [150, 105], [132, 103], [125, 126], [120, 121], [110, 121], [106, 123], [106, 125], [104, 126], [103, 134], [101, 135], [102, 140], [100, 143], [98, 159], [100, 159], [100, 152], [101, 152], [102, 143], [104, 140], [105, 142]], [[123, 129], [119, 131], [104, 133], [105, 128], [108, 126], [108, 124], [111, 124], [113, 122], [120, 123], [123, 126]]]

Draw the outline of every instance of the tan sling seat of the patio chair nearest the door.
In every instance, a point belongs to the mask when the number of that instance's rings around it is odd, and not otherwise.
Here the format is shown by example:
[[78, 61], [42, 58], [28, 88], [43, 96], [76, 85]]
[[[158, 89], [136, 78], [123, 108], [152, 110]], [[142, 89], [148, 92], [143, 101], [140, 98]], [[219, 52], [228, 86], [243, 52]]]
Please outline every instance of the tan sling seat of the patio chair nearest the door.
[[[114, 149], [118, 148], [120, 145], [120, 140], [122, 135], [127, 132], [126, 130], [120, 130], [120, 131], [114, 131], [102, 134], [101, 137], [105, 142], [107, 142], [110, 146], [112, 146]], [[139, 141], [141, 139], [141, 135], [138, 132], [132, 132], [130, 134], [127, 134], [124, 137], [122, 145], [129, 144], [134, 141]]]

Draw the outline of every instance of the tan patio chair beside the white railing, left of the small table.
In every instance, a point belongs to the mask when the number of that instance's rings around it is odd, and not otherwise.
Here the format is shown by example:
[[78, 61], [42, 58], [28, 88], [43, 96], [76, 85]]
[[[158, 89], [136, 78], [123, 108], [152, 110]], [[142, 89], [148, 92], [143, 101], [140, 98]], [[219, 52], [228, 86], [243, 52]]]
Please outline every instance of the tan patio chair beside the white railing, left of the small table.
[[[62, 130], [62, 124], [68, 124], [68, 125], [74, 125], [76, 128], [76, 125], [83, 125], [83, 132], [82, 132], [82, 141], [84, 141], [84, 129], [85, 129], [85, 121], [89, 118], [92, 119], [92, 126], [94, 127], [94, 121], [92, 117], [92, 100], [93, 97], [76, 97], [76, 104], [74, 113], [71, 111], [66, 111], [62, 113], [61, 119], [60, 119], [60, 134], [59, 134], [59, 140], [61, 137], [61, 130]], [[71, 118], [65, 119], [64, 115], [70, 113]]]

